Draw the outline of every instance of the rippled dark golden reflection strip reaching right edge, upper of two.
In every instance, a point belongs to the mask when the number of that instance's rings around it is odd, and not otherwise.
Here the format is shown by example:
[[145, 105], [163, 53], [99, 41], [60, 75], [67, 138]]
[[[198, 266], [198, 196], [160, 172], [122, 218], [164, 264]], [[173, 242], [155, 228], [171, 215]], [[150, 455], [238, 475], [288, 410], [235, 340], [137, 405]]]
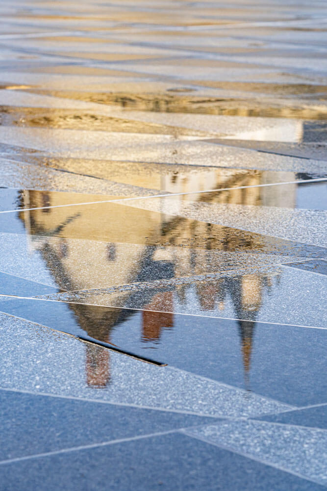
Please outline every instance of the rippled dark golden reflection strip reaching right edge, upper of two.
[[[197, 84], [197, 81], [184, 80], [185, 85]], [[201, 84], [201, 82], [199, 82]], [[226, 90], [228, 90], [229, 82], [226, 82]], [[269, 84], [253, 84], [253, 90], [259, 91], [262, 87], [266, 93], [270, 89]], [[287, 86], [290, 87], [290, 86]], [[291, 88], [285, 88], [285, 91], [290, 91]], [[307, 94], [317, 95], [319, 99], [320, 93], [309, 92], [309, 88], [302, 87], [304, 96]], [[307, 90], [307, 92], [305, 92]], [[301, 86], [295, 88], [294, 91], [301, 91]], [[322, 97], [326, 98], [326, 87], [321, 86]], [[310, 106], [309, 101], [304, 99], [290, 99], [282, 103], [278, 99], [270, 99], [264, 97], [248, 98], [248, 97], [214, 97], [211, 95], [203, 96], [196, 94], [172, 93], [166, 92], [149, 92], [149, 93], [133, 93], [133, 92], [83, 92], [74, 90], [39, 90], [33, 89], [31, 92], [38, 94], [51, 95], [53, 97], [62, 97], [75, 99], [78, 101], [93, 102], [97, 104], [105, 104], [109, 106], [119, 106], [128, 110], [154, 111], [154, 112], [176, 112], [188, 114], [216, 114], [224, 116], [247, 116], [247, 117], [274, 117], [274, 118], [291, 118], [291, 119], [317, 119], [325, 120], [327, 116], [327, 107], [322, 101], [315, 101], [315, 104]], [[273, 94], [273, 89], [272, 89]], [[287, 94], [286, 94], [287, 95]]]

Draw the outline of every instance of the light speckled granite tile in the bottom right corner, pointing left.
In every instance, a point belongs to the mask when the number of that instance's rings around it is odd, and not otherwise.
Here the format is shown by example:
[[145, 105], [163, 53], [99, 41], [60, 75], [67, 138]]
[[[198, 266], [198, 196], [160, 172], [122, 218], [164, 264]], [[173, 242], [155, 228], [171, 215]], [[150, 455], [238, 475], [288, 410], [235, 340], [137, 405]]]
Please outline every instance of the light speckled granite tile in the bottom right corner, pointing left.
[[185, 433], [326, 486], [327, 432], [324, 430], [235, 421], [193, 428]]

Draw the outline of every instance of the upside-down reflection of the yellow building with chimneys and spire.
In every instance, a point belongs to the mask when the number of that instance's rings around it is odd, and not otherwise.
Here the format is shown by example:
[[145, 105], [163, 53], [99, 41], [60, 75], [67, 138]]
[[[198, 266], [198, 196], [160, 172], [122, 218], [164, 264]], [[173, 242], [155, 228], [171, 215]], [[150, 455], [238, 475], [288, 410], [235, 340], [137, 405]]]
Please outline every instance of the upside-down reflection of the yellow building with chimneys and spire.
[[[269, 173], [216, 169], [211, 188], [255, 186], [269, 181]], [[173, 179], [174, 178], [174, 179]], [[206, 176], [207, 178], [207, 176]], [[167, 177], [170, 191], [196, 191], [193, 178], [189, 187], [185, 176], [174, 173]], [[289, 177], [289, 180], [293, 180]], [[177, 186], [177, 188], [176, 188]], [[179, 186], [179, 188], [178, 188]], [[278, 200], [278, 186], [232, 189], [222, 193], [205, 193], [200, 199], [209, 203], [258, 205], [268, 200], [271, 206]], [[198, 182], [199, 189], [199, 182]], [[266, 191], [268, 190], [268, 191]], [[268, 193], [268, 198], [265, 193]], [[199, 195], [192, 195], [199, 199]], [[67, 195], [67, 204], [69, 203]], [[256, 234], [229, 227], [205, 223], [165, 213], [150, 212], [117, 203], [40, 209], [42, 206], [65, 204], [65, 193], [24, 191], [25, 206], [37, 208], [21, 212], [29, 233], [31, 247], [41, 252], [48, 269], [62, 290], [87, 290], [127, 283], [149, 283], [149, 288], [112, 293], [112, 305], [140, 308], [142, 341], [158, 342], [163, 328], [174, 324], [174, 296], [186, 302], [188, 286], [153, 287], [153, 281], [173, 277], [188, 277], [237, 268], [237, 255], [224, 252], [264, 252], [273, 247]], [[180, 197], [185, 199], [184, 196]], [[290, 193], [290, 202], [294, 199]], [[175, 246], [175, 247], [170, 247]], [[278, 249], [276, 249], [278, 251]], [[176, 252], [178, 251], [178, 252]], [[212, 254], [212, 251], [222, 254]], [[230, 259], [232, 257], [232, 259]], [[266, 278], [259, 273], [240, 278], [222, 277], [214, 281], [197, 282], [195, 291], [203, 310], [224, 310], [227, 296], [232, 300], [239, 320], [245, 373], [250, 371], [254, 322], [266, 288]], [[126, 293], [127, 292], [127, 293]], [[126, 300], [128, 299], [128, 300]], [[98, 300], [98, 299], [97, 299]], [[90, 294], [92, 302], [92, 293]], [[95, 303], [99, 303], [96, 301]], [[87, 334], [110, 342], [110, 332], [132, 315], [120, 308], [92, 307], [70, 304], [76, 322]], [[159, 311], [159, 312], [158, 312]], [[160, 312], [161, 311], [161, 312]], [[250, 321], [244, 321], [250, 319]], [[109, 352], [89, 345], [86, 353], [87, 382], [104, 386], [110, 380]]]

